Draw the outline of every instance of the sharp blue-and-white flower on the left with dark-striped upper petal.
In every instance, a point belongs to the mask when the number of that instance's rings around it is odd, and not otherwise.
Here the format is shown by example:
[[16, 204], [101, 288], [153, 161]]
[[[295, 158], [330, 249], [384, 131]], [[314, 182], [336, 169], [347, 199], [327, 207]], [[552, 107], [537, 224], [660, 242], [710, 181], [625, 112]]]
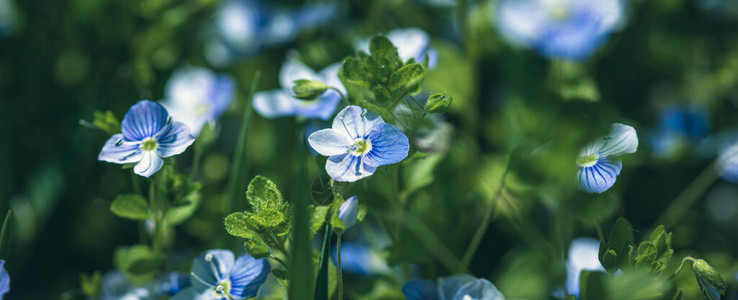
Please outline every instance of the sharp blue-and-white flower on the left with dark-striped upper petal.
[[105, 142], [98, 160], [135, 163], [133, 171], [144, 177], [161, 169], [162, 158], [184, 152], [195, 141], [187, 125], [173, 122], [163, 106], [149, 100], [131, 106], [123, 117], [121, 129], [123, 133]]

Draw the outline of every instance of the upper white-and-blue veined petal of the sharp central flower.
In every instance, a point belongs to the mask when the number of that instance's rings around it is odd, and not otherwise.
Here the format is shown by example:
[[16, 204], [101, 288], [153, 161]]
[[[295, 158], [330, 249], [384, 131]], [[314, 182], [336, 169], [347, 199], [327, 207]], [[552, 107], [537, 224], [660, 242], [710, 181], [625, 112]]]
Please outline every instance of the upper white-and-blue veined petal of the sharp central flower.
[[333, 129], [345, 132], [352, 140], [366, 137], [384, 120], [378, 114], [359, 106], [347, 106], [333, 119]]

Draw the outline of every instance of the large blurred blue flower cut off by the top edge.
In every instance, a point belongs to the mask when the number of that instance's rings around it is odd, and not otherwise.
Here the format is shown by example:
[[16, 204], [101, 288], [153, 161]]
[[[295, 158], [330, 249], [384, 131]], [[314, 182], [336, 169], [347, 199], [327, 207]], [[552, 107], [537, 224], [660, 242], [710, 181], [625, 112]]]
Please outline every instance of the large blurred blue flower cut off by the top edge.
[[549, 58], [585, 60], [624, 22], [625, 0], [502, 0], [497, 28]]

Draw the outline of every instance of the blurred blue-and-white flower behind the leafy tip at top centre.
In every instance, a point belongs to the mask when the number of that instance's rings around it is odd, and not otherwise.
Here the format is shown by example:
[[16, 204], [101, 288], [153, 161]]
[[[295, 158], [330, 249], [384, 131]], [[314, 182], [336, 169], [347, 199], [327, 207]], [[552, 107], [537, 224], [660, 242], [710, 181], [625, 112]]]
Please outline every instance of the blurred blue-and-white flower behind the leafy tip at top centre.
[[[425, 61], [428, 56], [428, 68], [438, 63], [438, 52], [430, 46], [430, 35], [420, 28], [398, 28], [388, 32], [387, 39], [397, 47], [397, 54], [402, 61], [414, 59], [415, 62]], [[356, 44], [356, 49], [369, 52], [370, 39], [363, 39]]]

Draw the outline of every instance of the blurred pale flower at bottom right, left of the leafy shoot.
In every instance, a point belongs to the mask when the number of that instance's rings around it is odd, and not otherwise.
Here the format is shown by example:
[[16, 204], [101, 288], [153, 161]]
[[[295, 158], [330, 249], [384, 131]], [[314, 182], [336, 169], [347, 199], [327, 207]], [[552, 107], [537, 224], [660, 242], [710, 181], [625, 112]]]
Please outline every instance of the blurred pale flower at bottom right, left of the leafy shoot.
[[593, 238], [577, 238], [569, 246], [569, 259], [566, 262], [566, 291], [579, 296], [579, 274], [583, 270], [604, 271], [598, 257], [600, 241]]

